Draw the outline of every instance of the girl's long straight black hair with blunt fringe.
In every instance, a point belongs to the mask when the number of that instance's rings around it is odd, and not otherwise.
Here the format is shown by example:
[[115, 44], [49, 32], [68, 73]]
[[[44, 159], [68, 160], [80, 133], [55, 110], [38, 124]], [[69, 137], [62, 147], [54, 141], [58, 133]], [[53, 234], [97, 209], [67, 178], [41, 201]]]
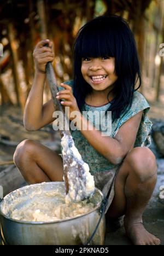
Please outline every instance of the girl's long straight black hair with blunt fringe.
[[[73, 94], [80, 110], [86, 95], [92, 90], [81, 73], [81, 60], [83, 57], [103, 56], [115, 57], [118, 79], [113, 91], [116, 96], [108, 109], [112, 111], [114, 121], [131, 107], [133, 92], [141, 84], [136, 42], [126, 20], [120, 16], [98, 16], [81, 27], [77, 34], [73, 47]], [[134, 89], [137, 82], [138, 88]]]

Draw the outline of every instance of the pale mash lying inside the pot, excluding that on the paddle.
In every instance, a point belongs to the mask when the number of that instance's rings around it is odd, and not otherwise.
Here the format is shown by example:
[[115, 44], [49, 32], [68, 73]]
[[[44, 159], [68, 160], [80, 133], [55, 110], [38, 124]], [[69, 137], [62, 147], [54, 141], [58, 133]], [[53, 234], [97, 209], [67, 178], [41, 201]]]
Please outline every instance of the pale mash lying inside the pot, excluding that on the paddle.
[[5, 215], [29, 222], [53, 222], [80, 216], [95, 207], [93, 202], [87, 200], [67, 203], [64, 187], [45, 191], [40, 185], [31, 193], [29, 187], [27, 191], [18, 189], [6, 202], [4, 199], [2, 212]]

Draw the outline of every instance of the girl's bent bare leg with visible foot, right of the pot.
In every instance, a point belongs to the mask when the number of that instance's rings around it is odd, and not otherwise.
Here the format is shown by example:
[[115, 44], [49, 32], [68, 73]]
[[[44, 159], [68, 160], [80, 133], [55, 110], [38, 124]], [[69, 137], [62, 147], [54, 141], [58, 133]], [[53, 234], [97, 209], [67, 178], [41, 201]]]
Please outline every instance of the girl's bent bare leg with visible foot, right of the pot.
[[134, 245], [159, 245], [142, 224], [142, 214], [156, 184], [156, 159], [148, 148], [133, 148], [120, 167], [115, 180], [115, 196], [107, 217], [125, 214], [124, 225]]

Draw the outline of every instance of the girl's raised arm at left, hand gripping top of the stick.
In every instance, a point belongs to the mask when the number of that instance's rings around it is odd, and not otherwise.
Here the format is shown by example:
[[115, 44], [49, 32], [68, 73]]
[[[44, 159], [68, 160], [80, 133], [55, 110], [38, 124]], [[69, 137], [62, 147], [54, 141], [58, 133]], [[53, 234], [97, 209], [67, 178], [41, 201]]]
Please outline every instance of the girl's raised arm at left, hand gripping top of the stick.
[[45, 66], [48, 61], [52, 62], [54, 59], [52, 49], [43, 46], [45, 43], [52, 46], [49, 40], [42, 40], [36, 45], [33, 53], [36, 72], [24, 112], [24, 126], [28, 131], [36, 131], [54, 120], [53, 101], [50, 100], [43, 105]]

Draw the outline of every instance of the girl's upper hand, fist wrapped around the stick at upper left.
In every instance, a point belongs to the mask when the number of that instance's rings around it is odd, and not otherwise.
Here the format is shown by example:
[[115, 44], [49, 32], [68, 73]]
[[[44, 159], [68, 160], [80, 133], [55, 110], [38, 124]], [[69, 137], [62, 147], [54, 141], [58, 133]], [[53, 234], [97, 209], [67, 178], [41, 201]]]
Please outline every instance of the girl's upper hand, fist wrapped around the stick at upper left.
[[[49, 47], [44, 46], [48, 44]], [[52, 42], [45, 39], [37, 43], [33, 51], [33, 58], [36, 67], [36, 72], [45, 73], [45, 66], [47, 62], [54, 60], [54, 53], [52, 52]]]

